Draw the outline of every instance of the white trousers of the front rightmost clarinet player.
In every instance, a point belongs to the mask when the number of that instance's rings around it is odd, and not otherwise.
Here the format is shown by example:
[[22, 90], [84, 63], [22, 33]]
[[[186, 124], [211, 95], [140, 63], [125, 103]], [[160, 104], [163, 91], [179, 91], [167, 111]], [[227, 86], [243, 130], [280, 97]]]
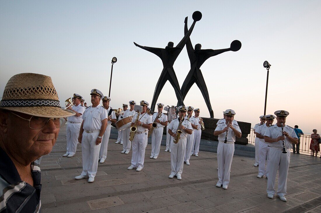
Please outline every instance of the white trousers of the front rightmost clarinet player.
[[269, 162], [269, 178], [267, 179], [266, 192], [274, 194], [274, 184], [276, 173], [279, 170], [278, 179], [278, 196], [286, 195], [286, 180], [288, 178], [288, 170], [290, 165], [290, 149], [286, 150], [287, 153], [282, 153], [282, 148], [270, 147], [270, 162]]

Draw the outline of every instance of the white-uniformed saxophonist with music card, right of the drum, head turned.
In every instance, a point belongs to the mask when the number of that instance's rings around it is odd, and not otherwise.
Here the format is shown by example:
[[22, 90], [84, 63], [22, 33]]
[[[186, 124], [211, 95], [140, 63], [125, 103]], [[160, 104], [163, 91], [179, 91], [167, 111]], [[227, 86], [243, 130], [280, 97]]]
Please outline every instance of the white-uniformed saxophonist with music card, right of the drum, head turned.
[[[137, 168], [136, 171], [141, 171], [144, 167], [145, 148], [147, 143], [148, 129], [152, 127], [152, 116], [146, 113], [148, 102], [142, 100], [140, 105], [143, 106], [143, 111], [136, 114], [132, 120], [132, 126], [137, 126], [134, 139], [132, 141], [132, 164], [127, 169]], [[138, 121], [136, 118], [138, 116]], [[133, 123], [135, 122], [135, 123]]]

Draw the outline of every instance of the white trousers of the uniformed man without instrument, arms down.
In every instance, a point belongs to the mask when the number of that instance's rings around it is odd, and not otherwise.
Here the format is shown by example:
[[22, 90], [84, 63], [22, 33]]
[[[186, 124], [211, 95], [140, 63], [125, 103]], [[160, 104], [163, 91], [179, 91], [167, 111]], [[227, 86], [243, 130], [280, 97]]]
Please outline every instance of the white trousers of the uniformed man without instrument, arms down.
[[82, 175], [88, 175], [89, 177], [95, 177], [98, 168], [98, 155], [100, 151], [100, 145], [96, 145], [96, 140], [99, 132], [82, 134]]

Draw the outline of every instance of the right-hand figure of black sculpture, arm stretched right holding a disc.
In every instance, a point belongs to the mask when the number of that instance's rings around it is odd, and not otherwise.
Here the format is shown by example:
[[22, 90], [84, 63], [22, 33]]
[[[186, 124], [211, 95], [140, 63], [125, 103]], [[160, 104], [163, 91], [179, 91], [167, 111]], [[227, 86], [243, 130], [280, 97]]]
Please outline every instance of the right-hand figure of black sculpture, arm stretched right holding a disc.
[[[187, 17], [185, 18], [184, 33], [185, 35], [188, 33]], [[214, 118], [214, 112], [212, 110], [210, 97], [208, 95], [208, 90], [207, 90], [202, 72], [200, 70], [200, 67], [208, 58], [212, 56], [215, 56], [227, 51], [234, 51], [234, 52], [238, 51], [241, 48], [241, 42], [238, 40], [234, 40], [232, 41], [230, 48], [221, 49], [221, 50], [212, 50], [212, 49], [201, 50], [201, 47], [202, 47], [201, 44], [196, 44], [195, 49], [193, 49], [191, 39], [188, 37], [186, 42], [186, 49], [187, 49], [188, 57], [191, 63], [191, 70], [189, 70], [187, 77], [184, 80], [184, 83], [181, 88], [181, 94], [184, 101], [188, 91], [193, 86], [193, 84], [196, 83], [196, 85], [198, 86], [198, 88], [201, 90], [203, 94], [203, 97], [207, 105], [208, 111], [210, 112], [211, 118]], [[179, 101], [178, 101], [178, 105], [180, 105]]]

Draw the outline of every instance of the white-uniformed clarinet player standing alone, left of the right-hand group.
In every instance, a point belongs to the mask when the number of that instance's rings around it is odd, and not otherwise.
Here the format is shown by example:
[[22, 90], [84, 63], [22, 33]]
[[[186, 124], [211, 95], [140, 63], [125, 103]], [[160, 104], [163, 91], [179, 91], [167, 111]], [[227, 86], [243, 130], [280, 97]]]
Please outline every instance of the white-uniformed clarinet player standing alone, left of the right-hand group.
[[227, 110], [224, 112], [224, 115], [225, 122], [223, 121], [219, 123], [214, 131], [214, 135], [218, 136], [219, 141], [219, 144], [217, 145], [217, 164], [219, 167], [219, 180], [216, 186], [222, 186], [223, 189], [227, 189], [230, 183], [230, 170], [234, 155], [234, 142], [236, 137], [240, 138], [242, 136], [242, 132], [239, 125], [233, 123], [235, 115], [234, 110]]

